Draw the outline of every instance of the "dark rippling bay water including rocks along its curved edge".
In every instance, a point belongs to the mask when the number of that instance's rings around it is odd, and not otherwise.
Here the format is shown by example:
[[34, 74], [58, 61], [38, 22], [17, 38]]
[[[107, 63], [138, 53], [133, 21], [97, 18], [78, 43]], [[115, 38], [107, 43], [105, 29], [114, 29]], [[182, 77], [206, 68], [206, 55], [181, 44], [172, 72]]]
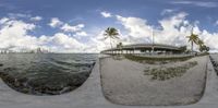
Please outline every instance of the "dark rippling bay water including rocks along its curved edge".
[[0, 77], [21, 93], [59, 95], [81, 86], [97, 57], [90, 53], [0, 55]]

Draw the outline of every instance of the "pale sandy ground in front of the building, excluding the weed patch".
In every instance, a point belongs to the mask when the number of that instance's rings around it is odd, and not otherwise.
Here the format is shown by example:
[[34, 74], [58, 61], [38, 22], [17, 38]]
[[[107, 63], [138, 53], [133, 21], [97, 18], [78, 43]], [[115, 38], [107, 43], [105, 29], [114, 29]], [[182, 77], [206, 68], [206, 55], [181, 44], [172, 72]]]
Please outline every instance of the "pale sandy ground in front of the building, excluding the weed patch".
[[[144, 75], [147, 67], [128, 59], [105, 58], [100, 61], [102, 89], [106, 98], [121, 105], [189, 105], [198, 101], [204, 93], [207, 57], [197, 57], [185, 62], [197, 61], [180, 77], [153, 81]], [[169, 63], [164, 67], [180, 65]]]

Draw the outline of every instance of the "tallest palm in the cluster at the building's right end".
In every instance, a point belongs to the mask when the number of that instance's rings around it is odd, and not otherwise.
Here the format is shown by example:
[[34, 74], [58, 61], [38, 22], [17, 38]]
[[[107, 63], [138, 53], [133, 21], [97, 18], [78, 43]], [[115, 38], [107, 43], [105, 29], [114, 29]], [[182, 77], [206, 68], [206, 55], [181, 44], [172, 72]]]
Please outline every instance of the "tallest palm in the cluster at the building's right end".
[[198, 40], [199, 40], [199, 38], [198, 38], [198, 35], [196, 35], [196, 34], [194, 34], [193, 33], [193, 28], [192, 28], [192, 33], [191, 33], [191, 35], [190, 36], [186, 36], [187, 38], [189, 38], [189, 41], [191, 43], [191, 47], [192, 47], [192, 52], [193, 52], [193, 45], [194, 44], [198, 44]]

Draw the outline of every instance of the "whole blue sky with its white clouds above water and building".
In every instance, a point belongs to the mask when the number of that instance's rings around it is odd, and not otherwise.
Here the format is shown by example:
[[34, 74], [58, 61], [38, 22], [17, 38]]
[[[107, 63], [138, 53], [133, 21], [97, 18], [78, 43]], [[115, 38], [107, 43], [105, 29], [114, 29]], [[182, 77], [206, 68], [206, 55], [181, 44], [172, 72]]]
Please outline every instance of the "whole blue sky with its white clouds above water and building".
[[[191, 29], [218, 51], [217, 0], [1, 0], [0, 49], [99, 52], [116, 27], [129, 44], [187, 46]], [[197, 49], [197, 46], [194, 46]]]

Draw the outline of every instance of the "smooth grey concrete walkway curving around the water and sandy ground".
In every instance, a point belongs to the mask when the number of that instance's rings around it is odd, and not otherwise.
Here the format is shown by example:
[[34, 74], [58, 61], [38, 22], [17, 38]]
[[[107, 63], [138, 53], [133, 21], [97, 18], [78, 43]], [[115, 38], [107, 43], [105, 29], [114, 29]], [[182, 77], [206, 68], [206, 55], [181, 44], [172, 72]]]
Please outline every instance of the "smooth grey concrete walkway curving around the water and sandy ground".
[[88, 80], [74, 92], [60, 96], [33, 96], [17, 93], [0, 80], [0, 108], [217, 108], [218, 77], [210, 61], [207, 64], [207, 82], [203, 98], [189, 106], [121, 106], [109, 103], [102, 95], [99, 61]]

